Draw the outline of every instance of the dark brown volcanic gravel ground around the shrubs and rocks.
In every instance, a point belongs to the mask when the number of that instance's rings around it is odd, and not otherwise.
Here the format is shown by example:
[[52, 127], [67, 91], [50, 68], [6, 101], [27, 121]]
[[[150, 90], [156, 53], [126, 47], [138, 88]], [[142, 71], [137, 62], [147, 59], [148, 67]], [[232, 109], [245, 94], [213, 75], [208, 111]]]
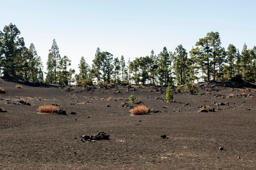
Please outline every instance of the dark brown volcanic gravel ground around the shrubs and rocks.
[[[15, 85], [0, 82], [6, 91], [0, 107], [8, 111], [0, 113], [0, 170], [256, 169], [255, 89], [201, 84], [198, 95], [182, 88], [174, 93], [176, 102], [166, 103], [165, 88], [150, 86], [66, 92]], [[234, 97], [228, 97], [231, 93]], [[131, 116], [120, 106], [130, 94], [160, 112]], [[7, 104], [20, 100], [31, 106]], [[67, 115], [37, 113], [44, 104], [58, 104]], [[216, 112], [198, 113], [204, 104]], [[98, 132], [108, 132], [110, 140], [80, 141]]]

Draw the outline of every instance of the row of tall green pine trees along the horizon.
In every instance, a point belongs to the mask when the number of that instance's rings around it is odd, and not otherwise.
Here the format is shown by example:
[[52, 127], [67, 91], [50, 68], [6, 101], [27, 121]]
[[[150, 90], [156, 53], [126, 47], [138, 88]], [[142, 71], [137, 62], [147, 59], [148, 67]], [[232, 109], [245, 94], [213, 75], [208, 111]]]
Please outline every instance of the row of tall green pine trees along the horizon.
[[[180, 44], [175, 51], [166, 47], [159, 54], [151, 51], [150, 56], [136, 57], [125, 61], [124, 56], [114, 57], [97, 48], [92, 66], [84, 57], [79, 62], [79, 74], [70, 68], [71, 60], [61, 57], [56, 40], [49, 49], [43, 72], [41, 57], [33, 43], [29, 48], [14, 24], [4, 26], [0, 31], [0, 74], [18, 76], [25, 80], [54, 84], [81, 85], [85, 79], [95, 79], [97, 83], [134, 83], [154, 85], [183, 85], [186, 82], [225, 81], [233, 77], [256, 82], [256, 46], [248, 49], [244, 44], [240, 51], [229, 44], [221, 46], [218, 32], [210, 32], [200, 38], [189, 51]], [[45, 74], [45, 78], [44, 78]], [[74, 76], [73, 76], [74, 75]]]

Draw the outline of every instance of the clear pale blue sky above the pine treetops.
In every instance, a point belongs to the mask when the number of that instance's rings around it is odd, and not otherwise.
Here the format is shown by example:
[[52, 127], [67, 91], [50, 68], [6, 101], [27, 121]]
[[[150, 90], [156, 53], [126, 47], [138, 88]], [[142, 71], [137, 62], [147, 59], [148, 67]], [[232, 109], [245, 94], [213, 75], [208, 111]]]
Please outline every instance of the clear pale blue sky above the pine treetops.
[[76, 72], [81, 56], [92, 64], [97, 47], [127, 62], [164, 46], [189, 52], [211, 31], [225, 49], [256, 45], [254, 0], [0, 0], [0, 7], [1, 30], [16, 24], [44, 65], [55, 38]]

